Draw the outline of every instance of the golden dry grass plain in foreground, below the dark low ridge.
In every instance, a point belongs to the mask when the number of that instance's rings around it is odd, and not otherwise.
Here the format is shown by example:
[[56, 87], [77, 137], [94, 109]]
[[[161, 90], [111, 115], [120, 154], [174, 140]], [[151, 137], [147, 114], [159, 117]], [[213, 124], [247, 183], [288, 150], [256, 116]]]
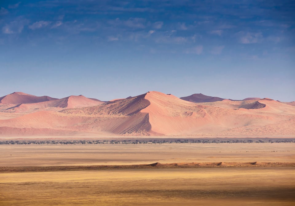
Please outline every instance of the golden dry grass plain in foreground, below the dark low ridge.
[[0, 174], [10, 205], [294, 205], [293, 167]]

